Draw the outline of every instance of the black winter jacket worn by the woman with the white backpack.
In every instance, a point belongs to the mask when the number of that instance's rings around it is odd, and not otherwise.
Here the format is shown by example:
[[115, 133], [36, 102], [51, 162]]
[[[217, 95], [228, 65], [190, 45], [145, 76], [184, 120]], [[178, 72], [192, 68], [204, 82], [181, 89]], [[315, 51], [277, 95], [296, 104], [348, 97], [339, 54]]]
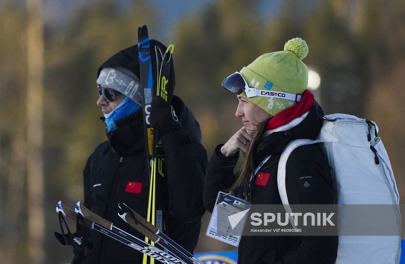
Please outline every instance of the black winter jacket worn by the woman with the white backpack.
[[[287, 144], [296, 139], [315, 139], [322, 127], [324, 113], [318, 103], [311, 107], [308, 116], [288, 131], [262, 136], [255, 147], [254, 167], [265, 157], [271, 158], [260, 168], [270, 174], [265, 186], [252, 180], [252, 204], [281, 204], [277, 187], [277, 168], [281, 153]], [[234, 166], [239, 153], [226, 157], [217, 146], [205, 174], [204, 204], [212, 212], [218, 191], [230, 188], [236, 175]], [[299, 178], [312, 176], [308, 190]], [[312, 188], [312, 187], [311, 187]], [[326, 159], [316, 144], [296, 148], [286, 165], [286, 190], [290, 204], [333, 204], [335, 191]], [[337, 257], [337, 236], [243, 236], [239, 244], [239, 264], [333, 264]]]

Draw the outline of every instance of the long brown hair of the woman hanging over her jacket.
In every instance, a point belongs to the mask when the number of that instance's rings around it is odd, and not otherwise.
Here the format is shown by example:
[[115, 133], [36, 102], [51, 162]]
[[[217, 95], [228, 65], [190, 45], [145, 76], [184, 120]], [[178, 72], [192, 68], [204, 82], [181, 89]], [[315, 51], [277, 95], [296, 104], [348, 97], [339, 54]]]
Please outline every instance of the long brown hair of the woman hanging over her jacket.
[[233, 192], [235, 189], [242, 188], [244, 193], [246, 193], [250, 175], [252, 174], [252, 172], [254, 172], [254, 152], [255, 152], [254, 146], [258, 141], [258, 139], [260, 138], [260, 136], [264, 133], [264, 129], [266, 128], [271, 118], [273, 118], [273, 116], [270, 116], [263, 122], [259, 122], [256, 125], [256, 131], [253, 131], [252, 140], [250, 140], [249, 145], [247, 146], [247, 152], [245, 153], [245, 161], [242, 164], [242, 168], [241, 171], [239, 172], [237, 180], [229, 189], [230, 192]]

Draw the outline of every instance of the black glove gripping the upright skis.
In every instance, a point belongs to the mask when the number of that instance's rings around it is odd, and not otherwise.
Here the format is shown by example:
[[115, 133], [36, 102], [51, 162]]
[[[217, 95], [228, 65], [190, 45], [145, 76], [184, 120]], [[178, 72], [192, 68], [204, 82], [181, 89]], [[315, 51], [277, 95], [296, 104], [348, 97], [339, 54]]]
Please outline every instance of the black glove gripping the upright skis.
[[176, 116], [175, 109], [160, 96], [156, 96], [152, 100], [149, 123], [151, 127], [159, 129], [162, 135], [181, 130], [181, 124]]

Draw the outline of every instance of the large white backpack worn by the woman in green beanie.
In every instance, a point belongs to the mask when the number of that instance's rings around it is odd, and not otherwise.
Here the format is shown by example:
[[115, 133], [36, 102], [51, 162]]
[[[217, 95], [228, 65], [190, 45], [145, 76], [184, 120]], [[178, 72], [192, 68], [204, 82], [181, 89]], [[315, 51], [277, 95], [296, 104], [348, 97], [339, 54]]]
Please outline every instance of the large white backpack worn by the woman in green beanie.
[[[288, 157], [299, 146], [314, 143], [322, 143], [337, 191], [337, 204], [399, 204], [394, 173], [377, 137], [377, 125], [347, 114], [332, 114], [324, 119], [316, 140], [294, 140], [281, 155], [277, 181], [286, 212], [291, 212], [285, 184]], [[399, 210], [396, 224], [400, 228]], [[399, 264], [400, 258], [400, 236], [339, 236], [335, 263]]]

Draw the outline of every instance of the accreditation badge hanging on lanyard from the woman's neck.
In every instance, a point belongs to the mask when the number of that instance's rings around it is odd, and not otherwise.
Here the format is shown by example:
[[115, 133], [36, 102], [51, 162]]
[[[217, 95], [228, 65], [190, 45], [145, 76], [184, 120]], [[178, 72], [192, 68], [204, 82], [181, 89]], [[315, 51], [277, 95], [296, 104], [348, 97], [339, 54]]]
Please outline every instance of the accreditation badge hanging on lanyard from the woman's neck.
[[249, 208], [249, 202], [220, 191], [206, 235], [238, 247]]

